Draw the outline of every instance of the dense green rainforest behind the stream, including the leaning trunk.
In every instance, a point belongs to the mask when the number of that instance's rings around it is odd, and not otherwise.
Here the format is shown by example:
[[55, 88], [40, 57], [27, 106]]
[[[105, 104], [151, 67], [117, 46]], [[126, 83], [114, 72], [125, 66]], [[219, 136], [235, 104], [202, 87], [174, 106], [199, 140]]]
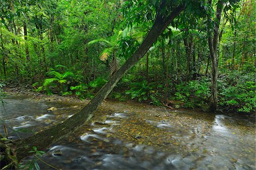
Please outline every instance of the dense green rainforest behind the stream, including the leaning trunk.
[[90, 99], [16, 142], [18, 160], [84, 125], [106, 97], [255, 111], [254, 1], [2, 0], [0, 7], [0, 90]]

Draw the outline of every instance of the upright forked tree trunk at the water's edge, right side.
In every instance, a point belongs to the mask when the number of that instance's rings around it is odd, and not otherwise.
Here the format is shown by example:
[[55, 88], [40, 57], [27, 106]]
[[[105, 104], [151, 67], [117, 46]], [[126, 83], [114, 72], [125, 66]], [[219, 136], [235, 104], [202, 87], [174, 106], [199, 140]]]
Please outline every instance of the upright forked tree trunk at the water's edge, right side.
[[[208, 0], [209, 5], [212, 5], [212, 1]], [[220, 28], [221, 12], [223, 8], [223, 0], [218, 0], [216, 10], [216, 22], [214, 23], [214, 32], [212, 38], [212, 31], [210, 31], [210, 23], [212, 19], [208, 16], [208, 44], [210, 51], [210, 58], [212, 61], [212, 87], [210, 97], [210, 110], [215, 112], [218, 104], [217, 97], [217, 77], [218, 77], [218, 56], [217, 56], [217, 45], [218, 45], [218, 32]]]

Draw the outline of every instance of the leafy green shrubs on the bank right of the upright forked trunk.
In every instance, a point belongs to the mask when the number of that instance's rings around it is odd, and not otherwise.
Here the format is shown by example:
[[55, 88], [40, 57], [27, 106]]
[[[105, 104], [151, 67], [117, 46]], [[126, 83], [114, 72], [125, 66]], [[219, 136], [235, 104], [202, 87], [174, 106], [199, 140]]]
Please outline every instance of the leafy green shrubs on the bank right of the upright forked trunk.
[[254, 74], [242, 74], [233, 71], [219, 81], [220, 106], [224, 111], [254, 112], [255, 82]]

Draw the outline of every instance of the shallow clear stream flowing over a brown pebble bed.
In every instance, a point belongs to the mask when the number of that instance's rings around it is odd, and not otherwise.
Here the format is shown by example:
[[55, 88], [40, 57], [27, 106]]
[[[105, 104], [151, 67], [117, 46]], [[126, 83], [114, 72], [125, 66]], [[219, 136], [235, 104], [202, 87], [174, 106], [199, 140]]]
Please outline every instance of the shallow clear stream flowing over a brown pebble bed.
[[[12, 139], [43, 130], [82, 107], [24, 96], [5, 101], [0, 133], [6, 124]], [[57, 110], [48, 112], [51, 107]], [[109, 101], [88, 125], [46, 148], [42, 159], [59, 169], [255, 169], [255, 118]]]

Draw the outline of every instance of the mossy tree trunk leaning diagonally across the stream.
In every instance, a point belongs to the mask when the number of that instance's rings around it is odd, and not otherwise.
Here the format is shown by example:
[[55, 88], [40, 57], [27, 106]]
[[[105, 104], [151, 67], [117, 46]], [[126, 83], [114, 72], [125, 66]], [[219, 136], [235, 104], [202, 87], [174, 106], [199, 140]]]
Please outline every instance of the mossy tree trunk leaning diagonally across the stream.
[[16, 143], [16, 155], [18, 159], [22, 159], [28, 156], [28, 151], [31, 150], [32, 146], [36, 146], [38, 150], [43, 150], [43, 148], [51, 145], [51, 143], [58, 141], [59, 139], [65, 137], [72, 131], [79, 128], [86, 121], [90, 120], [93, 116], [93, 112], [101, 104], [101, 102], [109, 95], [113, 90], [115, 84], [122, 76], [131, 69], [144, 54], [148, 51], [151, 45], [158, 39], [162, 34], [164, 29], [172, 22], [172, 20], [180, 14], [184, 6], [178, 6], [169, 16], [157, 15], [155, 23], [153, 24], [151, 31], [148, 32], [146, 39], [142, 42], [141, 46], [134, 52], [134, 54], [127, 59], [125, 64], [110, 78], [110, 80], [101, 88], [100, 91], [94, 96], [90, 102], [77, 112], [72, 117], [65, 121], [60, 122], [48, 128], [38, 134], [32, 135], [26, 139], [18, 141]]

